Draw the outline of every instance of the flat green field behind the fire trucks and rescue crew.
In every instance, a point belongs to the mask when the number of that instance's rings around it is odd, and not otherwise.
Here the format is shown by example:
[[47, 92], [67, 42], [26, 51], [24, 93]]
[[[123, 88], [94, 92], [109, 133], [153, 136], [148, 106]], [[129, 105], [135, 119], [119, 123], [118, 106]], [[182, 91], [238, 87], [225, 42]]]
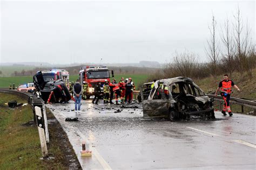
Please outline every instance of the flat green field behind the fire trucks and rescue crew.
[[[145, 74], [116, 74], [114, 75], [114, 79], [119, 82], [121, 77], [124, 77], [125, 79], [131, 77], [136, 89], [138, 89], [138, 85], [142, 84], [147, 79], [147, 76], [148, 75]], [[78, 79], [78, 75], [70, 76], [70, 82], [75, 82], [76, 79]], [[18, 86], [18, 84], [25, 84], [28, 82], [32, 82], [32, 76], [0, 77], [0, 87], [9, 87], [10, 83], [15, 83], [15, 86]]]

